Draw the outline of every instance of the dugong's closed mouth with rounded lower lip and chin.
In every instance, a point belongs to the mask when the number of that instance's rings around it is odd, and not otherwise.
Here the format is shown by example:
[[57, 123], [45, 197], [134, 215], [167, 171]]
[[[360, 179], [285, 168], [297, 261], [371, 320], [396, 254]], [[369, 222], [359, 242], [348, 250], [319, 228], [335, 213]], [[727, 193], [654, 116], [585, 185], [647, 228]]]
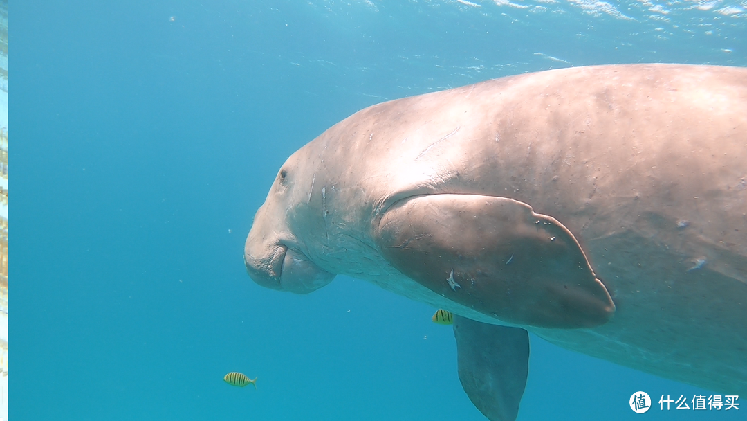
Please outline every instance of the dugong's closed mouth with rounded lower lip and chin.
[[285, 245], [273, 245], [269, 253], [256, 257], [250, 251], [250, 240], [244, 248], [244, 265], [249, 277], [261, 286], [308, 294], [332, 282], [335, 274], [323, 270], [300, 251]]

